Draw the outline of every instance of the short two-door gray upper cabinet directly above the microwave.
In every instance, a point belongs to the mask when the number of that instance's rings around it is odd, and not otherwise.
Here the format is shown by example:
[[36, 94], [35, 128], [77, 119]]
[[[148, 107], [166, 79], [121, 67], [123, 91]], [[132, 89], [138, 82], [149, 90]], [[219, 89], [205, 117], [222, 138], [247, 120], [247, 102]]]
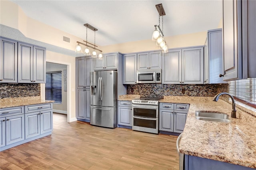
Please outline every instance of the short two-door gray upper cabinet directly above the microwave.
[[161, 69], [161, 51], [137, 53], [137, 70]]

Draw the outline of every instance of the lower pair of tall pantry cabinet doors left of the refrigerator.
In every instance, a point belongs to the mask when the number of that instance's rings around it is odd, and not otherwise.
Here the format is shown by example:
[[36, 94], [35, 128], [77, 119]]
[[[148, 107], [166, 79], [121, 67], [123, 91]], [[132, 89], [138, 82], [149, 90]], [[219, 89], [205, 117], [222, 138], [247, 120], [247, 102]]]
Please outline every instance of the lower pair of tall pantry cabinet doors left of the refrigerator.
[[90, 121], [90, 89], [77, 89], [76, 118]]

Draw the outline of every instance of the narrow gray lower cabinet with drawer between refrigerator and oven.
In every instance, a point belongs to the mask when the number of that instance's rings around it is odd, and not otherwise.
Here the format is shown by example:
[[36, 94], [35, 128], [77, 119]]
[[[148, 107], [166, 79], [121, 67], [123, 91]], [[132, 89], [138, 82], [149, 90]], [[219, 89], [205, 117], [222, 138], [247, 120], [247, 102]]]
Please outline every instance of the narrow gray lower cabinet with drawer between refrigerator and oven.
[[118, 125], [132, 126], [132, 101], [118, 101]]

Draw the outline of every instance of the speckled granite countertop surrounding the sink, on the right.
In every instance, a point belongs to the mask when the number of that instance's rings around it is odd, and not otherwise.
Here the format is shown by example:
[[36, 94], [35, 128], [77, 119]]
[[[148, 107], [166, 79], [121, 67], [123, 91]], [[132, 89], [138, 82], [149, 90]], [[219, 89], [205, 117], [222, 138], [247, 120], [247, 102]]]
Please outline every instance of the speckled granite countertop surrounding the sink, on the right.
[[212, 97], [164, 97], [164, 103], [189, 103], [180, 153], [256, 168], [256, 118], [237, 108], [231, 123], [197, 120], [196, 111], [231, 115], [232, 105]]

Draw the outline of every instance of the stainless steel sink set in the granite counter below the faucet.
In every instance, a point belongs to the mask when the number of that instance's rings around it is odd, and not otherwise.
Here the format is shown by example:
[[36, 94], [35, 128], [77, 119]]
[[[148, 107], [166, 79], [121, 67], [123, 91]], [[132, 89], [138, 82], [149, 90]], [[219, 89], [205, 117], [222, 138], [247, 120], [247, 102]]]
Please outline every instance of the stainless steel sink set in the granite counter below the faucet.
[[202, 121], [230, 123], [230, 120], [228, 120], [228, 115], [216, 112], [196, 111], [196, 119]]

